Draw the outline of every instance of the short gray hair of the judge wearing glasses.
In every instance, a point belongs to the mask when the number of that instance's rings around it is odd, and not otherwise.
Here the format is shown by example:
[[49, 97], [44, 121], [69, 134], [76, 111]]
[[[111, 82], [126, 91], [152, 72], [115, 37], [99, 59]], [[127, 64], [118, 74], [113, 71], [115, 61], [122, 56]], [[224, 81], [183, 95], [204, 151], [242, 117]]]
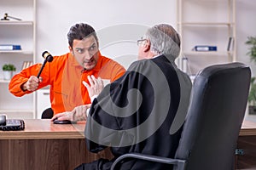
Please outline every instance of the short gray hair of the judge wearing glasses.
[[145, 34], [154, 54], [164, 54], [168, 59], [176, 59], [180, 53], [180, 38], [172, 26], [160, 24], [149, 28]]

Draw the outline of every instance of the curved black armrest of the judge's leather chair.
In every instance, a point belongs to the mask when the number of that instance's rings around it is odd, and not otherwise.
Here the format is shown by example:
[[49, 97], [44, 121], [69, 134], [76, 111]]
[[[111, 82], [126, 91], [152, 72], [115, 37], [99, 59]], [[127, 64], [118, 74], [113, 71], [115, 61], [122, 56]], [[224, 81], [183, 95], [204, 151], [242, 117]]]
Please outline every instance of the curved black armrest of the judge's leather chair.
[[140, 159], [144, 161], [155, 161], [159, 163], [166, 163], [166, 164], [172, 164], [177, 165], [177, 169], [183, 170], [185, 169], [186, 161], [185, 160], [178, 160], [178, 159], [172, 159], [167, 157], [161, 157], [161, 156], [150, 156], [140, 153], [129, 153], [122, 156], [119, 156], [115, 161], [113, 161], [113, 165], [111, 167], [111, 170], [114, 170], [115, 166], [122, 160], [126, 158], [134, 158], [134, 159]]

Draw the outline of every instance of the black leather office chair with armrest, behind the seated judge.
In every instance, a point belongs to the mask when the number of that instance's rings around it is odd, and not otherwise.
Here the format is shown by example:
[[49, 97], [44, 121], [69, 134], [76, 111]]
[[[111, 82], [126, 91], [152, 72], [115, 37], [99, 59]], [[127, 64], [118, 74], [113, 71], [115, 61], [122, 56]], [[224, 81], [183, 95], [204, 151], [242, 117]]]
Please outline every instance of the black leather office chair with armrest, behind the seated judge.
[[175, 158], [130, 153], [119, 156], [111, 169], [126, 158], [173, 164], [174, 169], [233, 169], [250, 78], [249, 67], [241, 63], [205, 68], [195, 77]]

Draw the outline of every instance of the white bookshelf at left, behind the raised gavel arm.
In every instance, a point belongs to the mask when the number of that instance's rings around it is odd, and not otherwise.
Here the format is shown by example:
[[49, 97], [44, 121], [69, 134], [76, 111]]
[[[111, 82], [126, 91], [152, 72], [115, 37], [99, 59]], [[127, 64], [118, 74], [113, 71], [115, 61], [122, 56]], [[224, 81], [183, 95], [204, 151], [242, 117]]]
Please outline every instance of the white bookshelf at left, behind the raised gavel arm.
[[[0, 44], [20, 45], [20, 50], [0, 50], [0, 114], [8, 118], [35, 118], [36, 94], [15, 97], [9, 93], [9, 80], [3, 79], [4, 64], [14, 64], [20, 72], [24, 61], [35, 62], [36, 54], [36, 0], [2, 0], [0, 6]], [[13, 17], [21, 19], [15, 20]]]

